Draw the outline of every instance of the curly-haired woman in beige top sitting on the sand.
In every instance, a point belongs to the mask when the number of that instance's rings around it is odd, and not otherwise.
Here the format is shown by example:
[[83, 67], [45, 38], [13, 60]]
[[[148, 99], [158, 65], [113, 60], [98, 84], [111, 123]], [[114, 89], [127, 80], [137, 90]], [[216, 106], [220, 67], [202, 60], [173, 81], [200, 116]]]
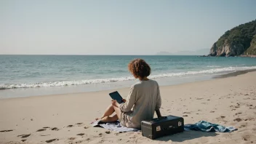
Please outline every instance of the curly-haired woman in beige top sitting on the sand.
[[[148, 79], [151, 67], [142, 59], [132, 60], [128, 69], [135, 79], [140, 81], [132, 85], [124, 103], [119, 104], [116, 100], [112, 100], [100, 121], [113, 122], [119, 120], [121, 125], [125, 127], [140, 128], [141, 121], [153, 119], [154, 111], [156, 111], [158, 117], [161, 117], [159, 111], [161, 107], [159, 84]], [[113, 112], [116, 112], [116, 115], [111, 116]]]

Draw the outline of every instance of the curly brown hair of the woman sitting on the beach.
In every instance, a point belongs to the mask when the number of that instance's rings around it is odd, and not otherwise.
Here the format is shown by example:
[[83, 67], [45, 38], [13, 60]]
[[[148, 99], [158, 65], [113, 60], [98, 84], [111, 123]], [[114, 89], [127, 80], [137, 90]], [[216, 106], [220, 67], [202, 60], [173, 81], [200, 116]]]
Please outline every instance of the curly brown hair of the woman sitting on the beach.
[[145, 76], [149, 76], [151, 74], [151, 67], [148, 63], [145, 63], [145, 60], [137, 58], [132, 60], [128, 64], [128, 70], [132, 73], [135, 78], [144, 78]]

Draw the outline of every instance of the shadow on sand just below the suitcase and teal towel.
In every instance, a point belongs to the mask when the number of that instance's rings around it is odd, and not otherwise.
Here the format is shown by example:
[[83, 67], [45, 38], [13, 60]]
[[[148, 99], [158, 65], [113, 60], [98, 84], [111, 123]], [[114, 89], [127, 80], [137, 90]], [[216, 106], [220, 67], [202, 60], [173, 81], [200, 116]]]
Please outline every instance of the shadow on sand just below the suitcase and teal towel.
[[177, 133], [175, 135], [168, 135], [165, 137], [159, 137], [156, 140], [159, 141], [169, 141], [172, 140], [173, 142], [183, 142], [185, 140], [193, 140], [199, 137], [215, 137], [219, 135], [215, 132], [199, 132], [199, 131], [185, 131], [182, 133]]

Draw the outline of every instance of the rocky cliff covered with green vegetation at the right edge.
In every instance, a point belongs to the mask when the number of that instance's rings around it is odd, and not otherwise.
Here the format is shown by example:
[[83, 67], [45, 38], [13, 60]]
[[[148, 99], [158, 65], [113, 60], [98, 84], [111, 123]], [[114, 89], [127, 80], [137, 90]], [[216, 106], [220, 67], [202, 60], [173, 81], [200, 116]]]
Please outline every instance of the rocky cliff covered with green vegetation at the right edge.
[[256, 20], [226, 31], [212, 45], [210, 56], [256, 55]]

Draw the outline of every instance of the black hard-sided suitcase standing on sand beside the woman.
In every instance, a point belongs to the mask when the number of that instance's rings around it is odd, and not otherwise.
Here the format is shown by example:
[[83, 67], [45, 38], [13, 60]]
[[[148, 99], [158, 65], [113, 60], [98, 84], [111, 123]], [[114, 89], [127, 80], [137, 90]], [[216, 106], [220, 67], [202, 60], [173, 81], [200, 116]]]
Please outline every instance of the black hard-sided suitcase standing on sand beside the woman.
[[163, 116], [160, 119], [141, 121], [141, 131], [144, 137], [156, 139], [184, 131], [184, 119], [177, 116]]

